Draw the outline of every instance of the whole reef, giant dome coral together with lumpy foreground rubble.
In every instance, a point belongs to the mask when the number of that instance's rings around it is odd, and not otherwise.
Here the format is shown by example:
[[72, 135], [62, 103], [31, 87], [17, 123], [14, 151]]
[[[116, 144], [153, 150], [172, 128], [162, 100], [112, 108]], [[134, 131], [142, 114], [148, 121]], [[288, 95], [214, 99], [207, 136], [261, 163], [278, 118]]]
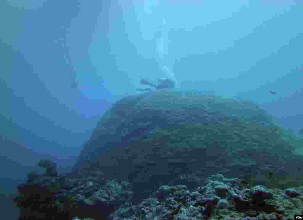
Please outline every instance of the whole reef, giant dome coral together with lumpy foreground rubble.
[[301, 145], [250, 101], [150, 91], [105, 113], [71, 174], [41, 160], [14, 201], [20, 220], [293, 219]]

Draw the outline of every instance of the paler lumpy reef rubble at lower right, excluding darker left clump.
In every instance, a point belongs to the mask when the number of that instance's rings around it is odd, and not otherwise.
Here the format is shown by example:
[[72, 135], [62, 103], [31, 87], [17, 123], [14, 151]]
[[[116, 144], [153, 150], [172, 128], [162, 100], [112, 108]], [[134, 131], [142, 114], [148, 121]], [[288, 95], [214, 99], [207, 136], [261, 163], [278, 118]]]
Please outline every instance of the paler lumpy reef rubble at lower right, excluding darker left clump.
[[207, 184], [194, 192], [189, 192], [185, 185], [161, 186], [154, 197], [138, 205], [120, 207], [110, 217], [113, 220], [286, 220], [303, 214], [303, 187], [282, 191], [257, 185], [240, 189], [239, 181], [218, 174], [207, 178]]

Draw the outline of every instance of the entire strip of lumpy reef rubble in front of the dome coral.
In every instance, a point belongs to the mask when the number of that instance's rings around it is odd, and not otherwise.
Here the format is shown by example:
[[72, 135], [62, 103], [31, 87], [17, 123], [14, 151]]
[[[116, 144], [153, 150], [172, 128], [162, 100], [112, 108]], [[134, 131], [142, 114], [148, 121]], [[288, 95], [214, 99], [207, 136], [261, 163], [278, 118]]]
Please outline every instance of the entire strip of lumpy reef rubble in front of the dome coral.
[[[46, 169], [47, 170], [47, 169]], [[48, 169], [49, 171], [49, 169]], [[132, 185], [106, 179], [102, 172], [84, 176], [30, 173], [18, 185], [14, 202], [19, 219], [286, 220], [303, 214], [303, 186], [242, 188], [238, 178], [208, 177], [193, 192], [186, 185], [162, 185], [151, 197], [134, 205]]]

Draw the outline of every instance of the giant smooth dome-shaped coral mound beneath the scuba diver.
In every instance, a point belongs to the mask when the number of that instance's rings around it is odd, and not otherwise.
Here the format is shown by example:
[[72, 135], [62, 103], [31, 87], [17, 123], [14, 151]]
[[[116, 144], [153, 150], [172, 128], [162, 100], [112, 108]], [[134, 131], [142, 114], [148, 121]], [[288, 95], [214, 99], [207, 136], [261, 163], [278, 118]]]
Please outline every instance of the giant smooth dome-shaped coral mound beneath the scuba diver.
[[[74, 167], [163, 185], [182, 175], [256, 175], [301, 160], [283, 129], [253, 102], [213, 92], [156, 90], [116, 102]], [[294, 169], [292, 169], [294, 170]]]

